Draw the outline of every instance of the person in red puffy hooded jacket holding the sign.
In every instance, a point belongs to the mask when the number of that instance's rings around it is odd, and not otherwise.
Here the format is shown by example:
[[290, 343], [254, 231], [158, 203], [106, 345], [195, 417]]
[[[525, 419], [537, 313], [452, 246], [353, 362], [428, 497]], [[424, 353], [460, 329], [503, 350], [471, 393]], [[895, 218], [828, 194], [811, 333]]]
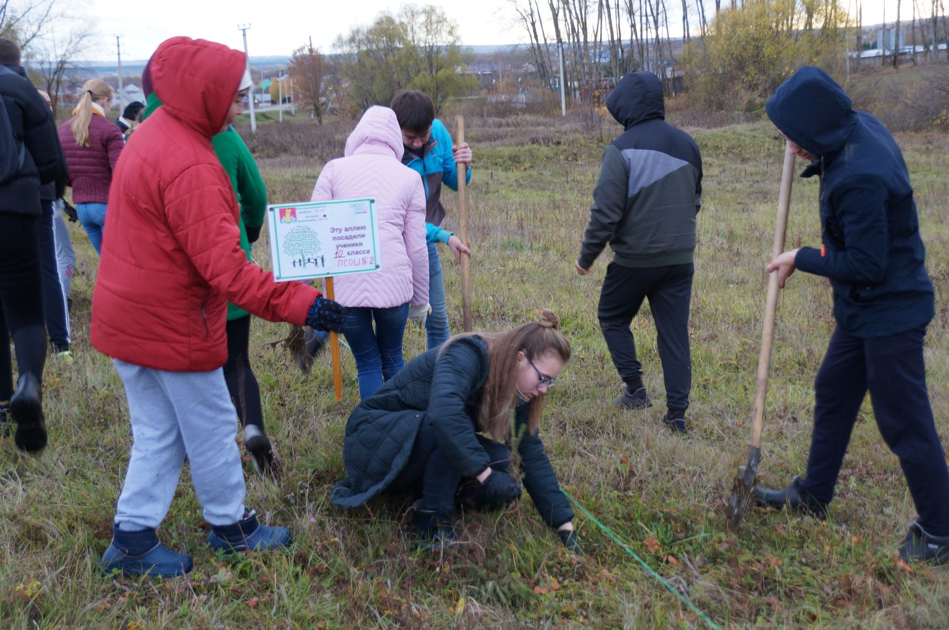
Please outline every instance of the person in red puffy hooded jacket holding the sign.
[[237, 414], [221, 366], [227, 302], [270, 321], [343, 331], [343, 308], [300, 282], [276, 283], [240, 246], [239, 209], [212, 136], [226, 129], [251, 85], [247, 56], [175, 37], [152, 57], [164, 102], [122, 151], [92, 297], [89, 340], [115, 359], [134, 443], [119, 497], [106, 572], [180, 575], [191, 558], [158, 543], [185, 457], [211, 525], [227, 551], [290, 542], [286, 528], [244, 507], [234, 441]]

